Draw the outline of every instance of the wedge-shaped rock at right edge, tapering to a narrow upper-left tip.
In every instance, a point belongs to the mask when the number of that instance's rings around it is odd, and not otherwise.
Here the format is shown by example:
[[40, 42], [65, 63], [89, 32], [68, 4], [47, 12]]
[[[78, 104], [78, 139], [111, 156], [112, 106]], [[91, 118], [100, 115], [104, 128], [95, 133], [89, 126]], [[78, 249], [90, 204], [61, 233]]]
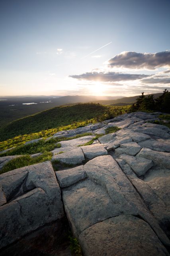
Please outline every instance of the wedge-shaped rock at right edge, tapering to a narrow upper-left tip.
[[122, 159], [116, 159], [123, 172], [127, 175], [153, 216], [158, 220], [160, 227], [170, 236], [170, 192], [169, 171], [166, 168], [153, 166], [143, 180], [137, 177], [128, 164]]

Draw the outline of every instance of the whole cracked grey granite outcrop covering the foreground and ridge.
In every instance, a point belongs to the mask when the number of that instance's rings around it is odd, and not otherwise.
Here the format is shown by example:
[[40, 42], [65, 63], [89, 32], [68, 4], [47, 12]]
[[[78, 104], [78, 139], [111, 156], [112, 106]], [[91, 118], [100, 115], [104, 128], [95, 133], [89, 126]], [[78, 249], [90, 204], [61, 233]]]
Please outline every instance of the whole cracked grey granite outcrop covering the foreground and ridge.
[[[64, 212], [84, 256], [169, 255], [170, 129], [148, 122], [159, 114], [123, 114], [57, 132], [92, 135], [60, 142], [51, 160], [59, 171], [48, 161], [0, 175], [0, 255], [12, 255], [40, 230], [48, 241], [48, 232], [58, 239]], [[113, 126], [121, 130], [103, 135]]]

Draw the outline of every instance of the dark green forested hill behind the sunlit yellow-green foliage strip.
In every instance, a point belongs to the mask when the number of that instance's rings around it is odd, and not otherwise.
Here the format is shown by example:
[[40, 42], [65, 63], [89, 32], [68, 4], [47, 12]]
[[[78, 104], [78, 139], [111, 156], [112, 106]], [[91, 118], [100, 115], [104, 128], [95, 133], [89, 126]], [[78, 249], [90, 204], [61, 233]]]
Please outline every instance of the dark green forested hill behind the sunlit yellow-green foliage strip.
[[76, 104], [73, 106], [60, 106], [39, 112], [11, 122], [0, 129], [0, 141], [14, 136], [40, 132], [74, 124], [75, 122], [93, 122], [106, 120], [117, 114], [128, 111], [129, 106], [115, 107], [103, 106], [95, 103]]

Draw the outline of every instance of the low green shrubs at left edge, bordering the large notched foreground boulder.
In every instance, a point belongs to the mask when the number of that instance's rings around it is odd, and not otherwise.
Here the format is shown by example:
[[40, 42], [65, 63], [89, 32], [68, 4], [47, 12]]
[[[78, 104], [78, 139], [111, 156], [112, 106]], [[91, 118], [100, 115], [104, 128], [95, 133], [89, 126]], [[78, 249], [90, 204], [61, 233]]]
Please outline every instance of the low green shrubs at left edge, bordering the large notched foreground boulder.
[[51, 157], [52, 157], [51, 152], [44, 152], [40, 156], [36, 156], [36, 157], [25, 155], [18, 158], [14, 158], [2, 167], [2, 169], [0, 170], [0, 174], [4, 172], [9, 172], [11, 170], [15, 170], [17, 168], [28, 166], [31, 164], [38, 164], [47, 160], [51, 160]]

